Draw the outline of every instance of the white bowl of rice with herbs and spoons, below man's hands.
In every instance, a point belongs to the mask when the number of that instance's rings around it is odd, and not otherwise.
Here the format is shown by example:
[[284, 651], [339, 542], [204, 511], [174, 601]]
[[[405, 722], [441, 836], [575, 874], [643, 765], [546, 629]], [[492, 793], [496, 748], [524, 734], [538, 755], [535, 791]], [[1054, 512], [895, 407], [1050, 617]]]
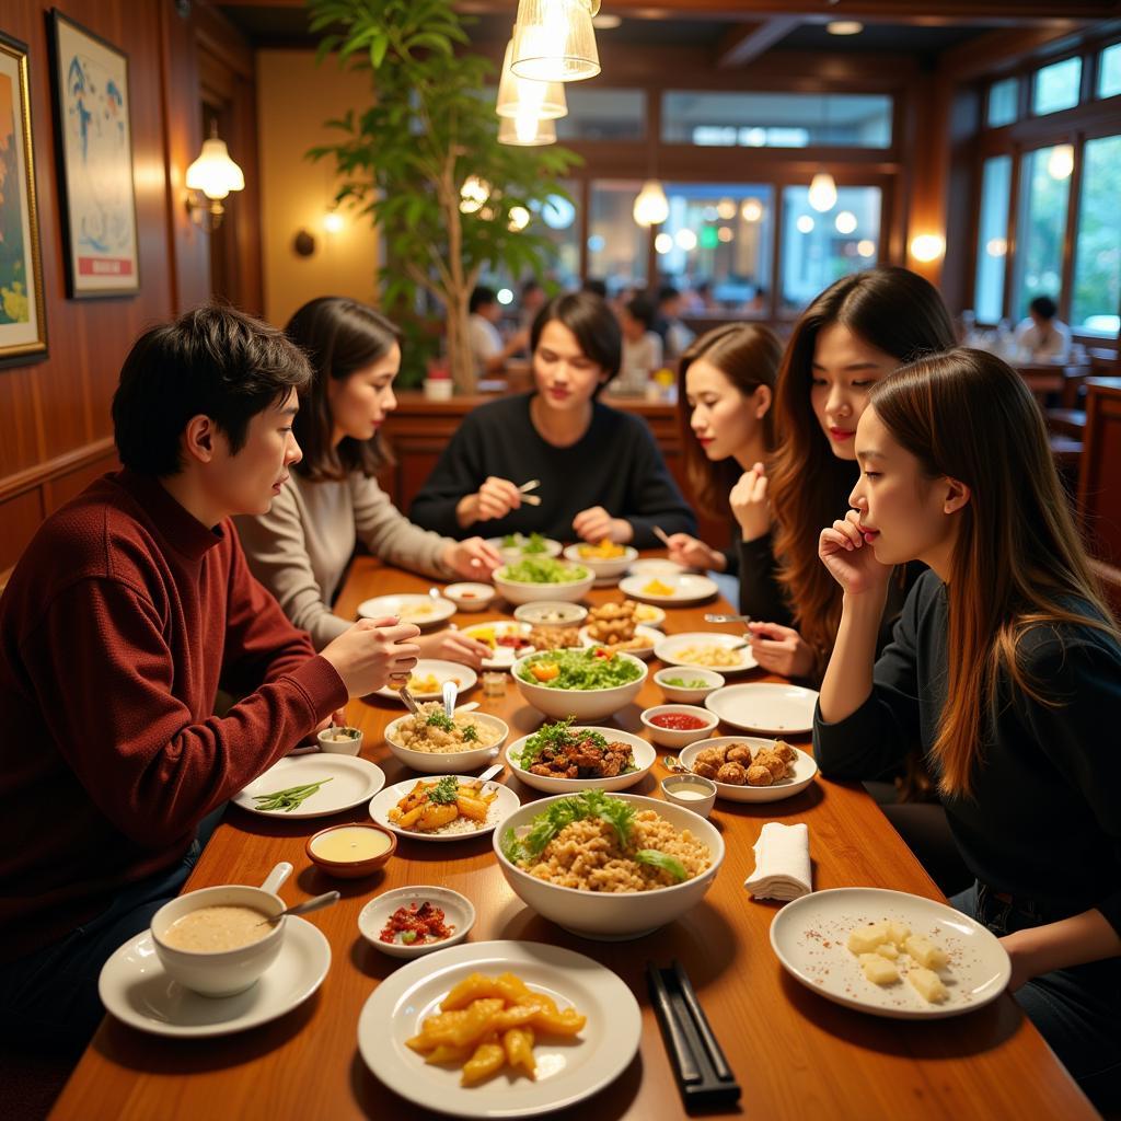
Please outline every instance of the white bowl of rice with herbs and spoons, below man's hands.
[[406, 767], [425, 775], [462, 773], [485, 767], [510, 734], [506, 721], [489, 713], [457, 712], [450, 728], [438, 702], [420, 705], [420, 712], [423, 723], [413, 715], [392, 721], [386, 729], [386, 743]]

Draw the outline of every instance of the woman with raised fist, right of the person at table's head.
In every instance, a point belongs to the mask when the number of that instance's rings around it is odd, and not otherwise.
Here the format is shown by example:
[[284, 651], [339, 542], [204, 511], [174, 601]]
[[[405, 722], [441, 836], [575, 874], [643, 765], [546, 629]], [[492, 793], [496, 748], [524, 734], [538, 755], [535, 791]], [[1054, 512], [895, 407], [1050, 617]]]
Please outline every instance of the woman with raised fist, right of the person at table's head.
[[767, 580], [775, 566], [770, 511], [753, 495], [767, 485], [763, 464], [775, 446], [771, 402], [781, 359], [782, 344], [769, 327], [729, 323], [697, 339], [677, 372], [685, 470], [701, 510], [732, 517], [734, 544], [720, 553], [688, 534], [675, 534], [669, 556], [740, 574], [740, 609], [747, 614], [756, 613], [752, 574]]

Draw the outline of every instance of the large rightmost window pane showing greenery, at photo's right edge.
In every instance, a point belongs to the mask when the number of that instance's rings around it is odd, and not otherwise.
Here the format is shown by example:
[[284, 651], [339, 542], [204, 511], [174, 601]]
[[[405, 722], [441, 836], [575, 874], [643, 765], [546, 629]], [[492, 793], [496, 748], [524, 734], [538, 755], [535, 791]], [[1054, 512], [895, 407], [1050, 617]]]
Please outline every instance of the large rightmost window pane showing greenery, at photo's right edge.
[[1087, 140], [1082, 168], [1071, 325], [1115, 335], [1121, 326], [1121, 136]]

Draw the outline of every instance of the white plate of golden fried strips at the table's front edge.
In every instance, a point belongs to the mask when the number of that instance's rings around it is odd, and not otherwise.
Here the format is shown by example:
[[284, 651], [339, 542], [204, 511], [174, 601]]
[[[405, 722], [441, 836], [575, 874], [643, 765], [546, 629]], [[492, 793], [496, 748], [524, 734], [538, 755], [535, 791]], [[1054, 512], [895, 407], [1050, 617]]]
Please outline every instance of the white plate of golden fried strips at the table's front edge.
[[591, 957], [475, 942], [386, 978], [362, 1008], [358, 1047], [374, 1077], [425, 1111], [528, 1118], [609, 1085], [641, 1034], [634, 995]]

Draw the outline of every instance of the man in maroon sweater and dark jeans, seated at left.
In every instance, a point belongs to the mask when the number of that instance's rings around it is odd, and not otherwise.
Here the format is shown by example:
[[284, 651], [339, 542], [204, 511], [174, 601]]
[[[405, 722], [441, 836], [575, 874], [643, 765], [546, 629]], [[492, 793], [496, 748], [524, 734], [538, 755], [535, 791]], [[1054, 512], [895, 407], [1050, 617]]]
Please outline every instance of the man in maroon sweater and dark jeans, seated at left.
[[[415, 665], [396, 620], [316, 656], [229, 521], [265, 513], [299, 460], [309, 377], [228, 308], [146, 332], [113, 398], [123, 470], [43, 524], [0, 599], [0, 1037], [84, 1043], [101, 965], [178, 892], [226, 799]], [[244, 698], [222, 717], [219, 687]]]

